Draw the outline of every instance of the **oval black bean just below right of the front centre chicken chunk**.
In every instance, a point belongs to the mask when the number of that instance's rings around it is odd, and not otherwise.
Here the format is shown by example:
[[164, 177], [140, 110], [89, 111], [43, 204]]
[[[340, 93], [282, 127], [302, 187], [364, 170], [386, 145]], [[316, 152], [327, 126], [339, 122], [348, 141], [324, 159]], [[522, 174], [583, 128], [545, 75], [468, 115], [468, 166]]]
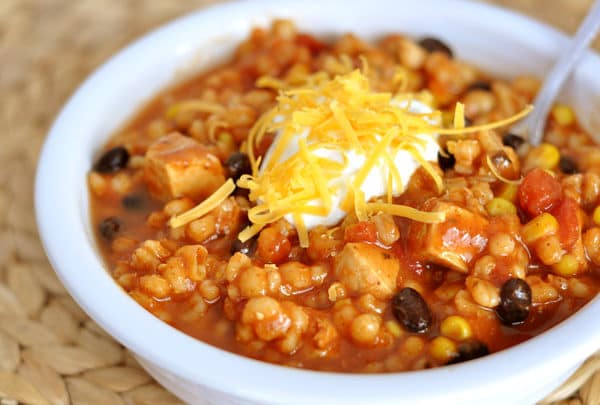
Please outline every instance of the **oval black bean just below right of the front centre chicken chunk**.
[[431, 311], [416, 290], [406, 287], [392, 298], [392, 313], [410, 332], [427, 331], [431, 325]]

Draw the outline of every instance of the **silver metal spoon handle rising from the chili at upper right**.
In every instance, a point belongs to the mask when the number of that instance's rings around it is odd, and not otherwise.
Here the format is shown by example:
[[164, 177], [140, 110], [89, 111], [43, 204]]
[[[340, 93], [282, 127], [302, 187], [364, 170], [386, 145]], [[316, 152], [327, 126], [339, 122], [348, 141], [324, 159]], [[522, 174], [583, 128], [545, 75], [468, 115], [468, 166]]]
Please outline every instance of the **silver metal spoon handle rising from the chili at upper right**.
[[535, 108], [527, 119], [529, 143], [532, 145], [538, 145], [542, 140], [546, 118], [558, 92], [569, 77], [575, 63], [577, 63], [595, 38], [599, 28], [600, 0], [596, 0], [579, 26], [577, 33], [544, 80], [542, 89], [535, 98], [533, 103]]

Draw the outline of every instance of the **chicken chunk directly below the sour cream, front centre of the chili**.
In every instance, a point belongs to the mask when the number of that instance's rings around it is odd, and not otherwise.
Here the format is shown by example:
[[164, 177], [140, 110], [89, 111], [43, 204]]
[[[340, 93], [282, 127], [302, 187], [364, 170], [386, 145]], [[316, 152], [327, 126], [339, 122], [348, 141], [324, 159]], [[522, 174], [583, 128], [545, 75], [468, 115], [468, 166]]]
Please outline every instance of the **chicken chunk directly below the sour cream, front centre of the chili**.
[[335, 274], [350, 295], [389, 299], [396, 291], [399, 270], [397, 259], [366, 243], [348, 243], [336, 257]]

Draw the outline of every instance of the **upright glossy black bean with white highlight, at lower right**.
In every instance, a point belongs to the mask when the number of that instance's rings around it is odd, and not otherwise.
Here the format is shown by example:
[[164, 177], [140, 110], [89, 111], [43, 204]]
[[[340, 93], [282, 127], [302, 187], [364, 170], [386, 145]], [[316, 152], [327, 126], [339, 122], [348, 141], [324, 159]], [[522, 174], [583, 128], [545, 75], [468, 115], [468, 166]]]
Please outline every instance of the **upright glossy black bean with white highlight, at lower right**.
[[500, 305], [496, 314], [508, 326], [520, 325], [529, 316], [531, 309], [531, 287], [520, 278], [511, 278], [502, 285]]

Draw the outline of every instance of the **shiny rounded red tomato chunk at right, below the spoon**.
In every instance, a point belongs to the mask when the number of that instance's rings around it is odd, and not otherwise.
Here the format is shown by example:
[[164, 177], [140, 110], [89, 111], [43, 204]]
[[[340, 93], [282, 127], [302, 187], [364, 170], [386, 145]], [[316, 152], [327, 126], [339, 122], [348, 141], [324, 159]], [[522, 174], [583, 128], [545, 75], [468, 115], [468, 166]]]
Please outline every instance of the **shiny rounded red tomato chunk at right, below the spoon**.
[[518, 190], [519, 205], [535, 217], [556, 207], [562, 199], [558, 180], [542, 169], [533, 169], [523, 179]]

